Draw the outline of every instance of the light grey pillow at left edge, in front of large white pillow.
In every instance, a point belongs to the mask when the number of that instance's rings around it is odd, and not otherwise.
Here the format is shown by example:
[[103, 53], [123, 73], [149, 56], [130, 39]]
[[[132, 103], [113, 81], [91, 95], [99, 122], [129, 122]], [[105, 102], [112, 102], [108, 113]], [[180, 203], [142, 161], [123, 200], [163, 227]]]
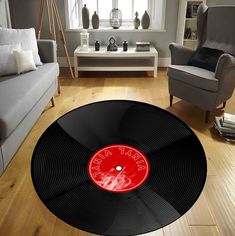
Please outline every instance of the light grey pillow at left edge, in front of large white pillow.
[[17, 73], [13, 51], [20, 49], [20, 44], [0, 45], [0, 76]]

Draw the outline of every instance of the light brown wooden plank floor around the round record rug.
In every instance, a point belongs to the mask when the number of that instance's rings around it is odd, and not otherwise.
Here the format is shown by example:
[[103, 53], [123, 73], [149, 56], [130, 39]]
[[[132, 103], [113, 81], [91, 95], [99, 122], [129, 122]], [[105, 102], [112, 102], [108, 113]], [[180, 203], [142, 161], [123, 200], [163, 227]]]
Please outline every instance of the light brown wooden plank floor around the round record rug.
[[[168, 110], [194, 130], [206, 152], [208, 177], [198, 201], [179, 220], [149, 235], [235, 235], [235, 145], [223, 141], [213, 129], [213, 116], [223, 111], [216, 110], [205, 124], [204, 112], [184, 101], [174, 99], [170, 108], [164, 69], [156, 79], [145, 74], [125, 75], [110, 72], [61, 78], [62, 93], [55, 97], [56, 106], [48, 104], [0, 177], [0, 236], [91, 235], [62, 222], [41, 203], [32, 185], [30, 162], [37, 140], [53, 121], [81, 105], [108, 99], [142, 101]], [[225, 111], [235, 114], [235, 94]]]

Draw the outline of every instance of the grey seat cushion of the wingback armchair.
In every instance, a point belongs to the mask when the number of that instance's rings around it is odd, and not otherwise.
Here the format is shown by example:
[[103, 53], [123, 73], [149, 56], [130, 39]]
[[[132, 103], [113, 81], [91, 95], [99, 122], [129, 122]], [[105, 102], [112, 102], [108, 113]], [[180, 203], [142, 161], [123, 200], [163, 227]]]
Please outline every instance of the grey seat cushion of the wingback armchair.
[[171, 78], [190, 84], [194, 87], [213, 92], [218, 90], [219, 82], [214, 77], [215, 73], [199, 67], [170, 65], [167, 74]]

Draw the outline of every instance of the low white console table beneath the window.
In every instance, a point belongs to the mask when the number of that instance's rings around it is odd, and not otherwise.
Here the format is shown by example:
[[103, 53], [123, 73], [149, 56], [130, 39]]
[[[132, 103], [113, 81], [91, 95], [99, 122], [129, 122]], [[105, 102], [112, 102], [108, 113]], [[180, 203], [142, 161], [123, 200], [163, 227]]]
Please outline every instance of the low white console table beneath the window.
[[151, 46], [150, 51], [137, 52], [128, 47], [124, 52], [119, 48], [116, 52], [108, 52], [101, 47], [100, 51], [89, 48], [88, 51], [77, 47], [74, 51], [74, 70], [78, 77], [79, 71], [153, 71], [157, 77], [158, 52]]

